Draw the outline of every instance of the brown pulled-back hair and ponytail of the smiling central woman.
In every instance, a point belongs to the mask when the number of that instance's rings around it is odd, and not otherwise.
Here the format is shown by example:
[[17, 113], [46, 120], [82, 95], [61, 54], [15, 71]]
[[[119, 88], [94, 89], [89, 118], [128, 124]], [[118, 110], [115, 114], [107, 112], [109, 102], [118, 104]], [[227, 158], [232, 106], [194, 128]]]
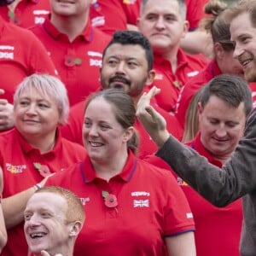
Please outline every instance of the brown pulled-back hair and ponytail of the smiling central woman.
[[[115, 119], [119, 122], [119, 124], [127, 129], [135, 124], [136, 121], [136, 109], [134, 107], [134, 103], [125, 90], [122, 89], [106, 89], [100, 90], [95, 94], [92, 94], [88, 100], [86, 101], [85, 108], [88, 108], [90, 102], [95, 100], [96, 98], [102, 97], [106, 102], [108, 102], [111, 106], [113, 106], [113, 113]], [[134, 132], [133, 136], [127, 143], [127, 148], [131, 148], [131, 150], [136, 153], [138, 147], [139, 139], [137, 137], [137, 133]]]

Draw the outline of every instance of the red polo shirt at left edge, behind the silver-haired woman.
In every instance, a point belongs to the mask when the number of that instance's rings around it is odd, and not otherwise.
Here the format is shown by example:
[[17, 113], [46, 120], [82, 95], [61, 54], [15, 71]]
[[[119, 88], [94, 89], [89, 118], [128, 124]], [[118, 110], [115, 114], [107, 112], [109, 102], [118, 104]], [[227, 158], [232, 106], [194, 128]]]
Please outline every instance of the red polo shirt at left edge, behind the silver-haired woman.
[[[0, 8], [1, 9], [1, 8]], [[32, 32], [10, 24], [0, 16], [0, 96], [13, 102], [15, 88], [32, 73], [55, 75], [55, 67], [44, 45]]]

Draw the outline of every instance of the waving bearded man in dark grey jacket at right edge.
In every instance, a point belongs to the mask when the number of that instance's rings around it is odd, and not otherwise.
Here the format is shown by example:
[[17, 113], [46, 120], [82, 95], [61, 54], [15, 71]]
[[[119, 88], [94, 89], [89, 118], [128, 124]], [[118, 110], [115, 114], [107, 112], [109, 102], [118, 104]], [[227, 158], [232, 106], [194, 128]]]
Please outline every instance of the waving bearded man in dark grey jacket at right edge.
[[[256, 0], [242, 0], [227, 11], [234, 57], [244, 67], [247, 82], [256, 82]], [[247, 119], [245, 135], [222, 168], [212, 166], [192, 148], [179, 143], [166, 131], [166, 122], [149, 106], [160, 92], [153, 88], [137, 105], [137, 117], [159, 146], [156, 153], [208, 201], [224, 207], [243, 200], [241, 255], [256, 255], [256, 109]]]

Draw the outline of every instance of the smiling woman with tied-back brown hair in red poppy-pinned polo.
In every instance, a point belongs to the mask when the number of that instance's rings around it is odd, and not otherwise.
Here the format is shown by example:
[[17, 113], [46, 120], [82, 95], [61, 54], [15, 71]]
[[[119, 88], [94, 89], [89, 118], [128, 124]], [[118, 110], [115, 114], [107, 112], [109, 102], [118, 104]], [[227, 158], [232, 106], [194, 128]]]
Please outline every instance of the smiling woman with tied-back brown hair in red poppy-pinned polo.
[[136, 157], [135, 111], [124, 90], [91, 96], [84, 110], [87, 156], [47, 180], [86, 202], [76, 256], [195, 255], [193, 216], [176, 180]]

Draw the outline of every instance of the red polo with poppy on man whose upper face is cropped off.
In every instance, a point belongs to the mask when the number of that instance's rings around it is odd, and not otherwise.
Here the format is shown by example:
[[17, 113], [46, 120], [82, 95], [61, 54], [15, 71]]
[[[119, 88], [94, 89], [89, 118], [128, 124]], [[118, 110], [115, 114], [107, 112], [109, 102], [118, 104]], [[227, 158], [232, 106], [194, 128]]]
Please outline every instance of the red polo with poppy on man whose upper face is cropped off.
[[59, 32], [49, 19], [31, 30], [49, 51], [62, 82], [66, 84], [71, 105], [84, 100], [85, 96], [100, 87], [102, 51], [110, 41], [110, 36], [92, 28], [90, 22], [73, 42], [69, 41], [66, 34]]

